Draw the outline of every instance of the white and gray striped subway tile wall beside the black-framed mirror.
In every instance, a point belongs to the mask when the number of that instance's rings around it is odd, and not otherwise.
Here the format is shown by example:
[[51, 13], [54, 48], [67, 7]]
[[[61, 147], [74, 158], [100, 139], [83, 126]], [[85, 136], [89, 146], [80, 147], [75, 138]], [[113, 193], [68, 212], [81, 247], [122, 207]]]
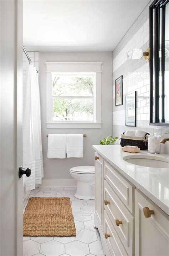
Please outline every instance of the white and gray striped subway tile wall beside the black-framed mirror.
[[[128, 60], [127, 52], [133, 48], [143, 51], [149, 47], [149, 4], [135, 20], [123, 39], [113, 51], [113, 136], [121, 137], [125, 130], [142, 129], [152, 134], [156, 132], [162, 137], [169, 137], [169, 126], [149, 126], [149, 61], [144, 58]], [[123, 105], [115, 106], [115, 80], [123, 75]], [[136, 125], [125, 126], [126, 95], [137, 91]], [[117, 144], [120, 140], [117, 140]], [[162, 144], [162, 152], [169, 154], [169, 144]]]

